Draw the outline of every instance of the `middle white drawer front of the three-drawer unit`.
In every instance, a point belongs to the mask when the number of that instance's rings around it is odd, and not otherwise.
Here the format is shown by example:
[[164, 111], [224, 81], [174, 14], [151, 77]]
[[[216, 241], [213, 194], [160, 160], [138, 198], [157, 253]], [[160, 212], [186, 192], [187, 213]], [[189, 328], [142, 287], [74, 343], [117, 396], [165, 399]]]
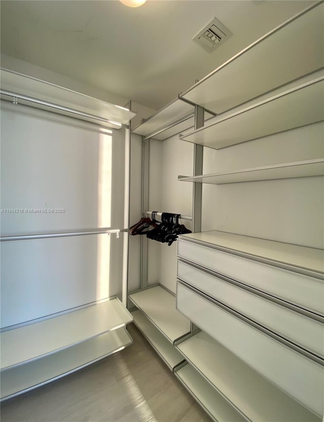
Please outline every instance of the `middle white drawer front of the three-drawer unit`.
[[324, 355], [324, 325], [257, 296], [216, 276], [178, 261], [178, 278], [259, 324], [284, 335], [319, 356]]

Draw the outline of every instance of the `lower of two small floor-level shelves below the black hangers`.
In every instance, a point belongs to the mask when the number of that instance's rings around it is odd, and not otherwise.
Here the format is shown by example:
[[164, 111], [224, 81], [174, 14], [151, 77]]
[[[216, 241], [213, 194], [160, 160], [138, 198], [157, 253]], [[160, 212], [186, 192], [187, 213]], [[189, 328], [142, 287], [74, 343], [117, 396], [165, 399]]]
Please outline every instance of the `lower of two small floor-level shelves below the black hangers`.
[[134, 318], [134, 324], [140, 329], [152, 348], [171, 371], [179, 363], [184, 361], [181, 353], [154, 327], [142, 311], [134, 311], [132, 312], [132, 316]]

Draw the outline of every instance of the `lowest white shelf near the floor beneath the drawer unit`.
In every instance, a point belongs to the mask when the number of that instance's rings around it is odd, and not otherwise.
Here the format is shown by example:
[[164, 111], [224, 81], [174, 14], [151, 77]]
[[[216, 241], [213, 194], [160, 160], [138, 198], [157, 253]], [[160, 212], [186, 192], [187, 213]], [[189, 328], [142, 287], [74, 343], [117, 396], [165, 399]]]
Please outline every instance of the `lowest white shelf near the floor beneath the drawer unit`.
[[191, 365], [183, 366], [175, 375], [215, 422], [246, 420]]

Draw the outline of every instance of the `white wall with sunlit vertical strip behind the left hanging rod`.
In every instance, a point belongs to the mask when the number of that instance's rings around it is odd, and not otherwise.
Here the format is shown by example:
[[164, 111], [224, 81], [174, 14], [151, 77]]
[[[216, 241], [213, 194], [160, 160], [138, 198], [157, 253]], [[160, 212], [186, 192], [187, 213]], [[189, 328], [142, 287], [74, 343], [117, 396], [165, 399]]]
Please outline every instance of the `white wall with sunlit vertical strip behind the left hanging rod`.
[[[2, 101], [2, 235], [124, 225], [124, 130]], [[29, 209], [64, 209], [33, 213]], [[2, 326], [121, 292], [123, 238], [1, 243]]]

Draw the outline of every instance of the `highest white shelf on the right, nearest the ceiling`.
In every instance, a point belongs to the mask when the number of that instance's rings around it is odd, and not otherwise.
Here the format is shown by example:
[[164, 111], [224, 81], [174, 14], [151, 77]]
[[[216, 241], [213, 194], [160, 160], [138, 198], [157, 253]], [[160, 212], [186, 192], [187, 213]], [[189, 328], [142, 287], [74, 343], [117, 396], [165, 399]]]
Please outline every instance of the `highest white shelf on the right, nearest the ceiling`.
[[181, 98], [219, 114], [322, 68], [323, 26], [320, 2], [262, 36]]

